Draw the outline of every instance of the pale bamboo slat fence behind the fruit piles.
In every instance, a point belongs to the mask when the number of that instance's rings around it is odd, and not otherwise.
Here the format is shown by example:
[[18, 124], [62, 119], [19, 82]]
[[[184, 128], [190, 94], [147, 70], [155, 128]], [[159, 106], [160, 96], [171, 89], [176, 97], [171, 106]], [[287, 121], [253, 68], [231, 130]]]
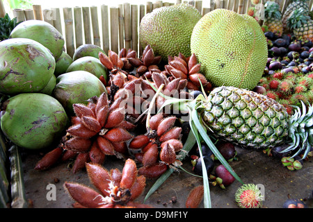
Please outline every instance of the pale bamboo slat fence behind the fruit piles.
[[[29, 19], [44, 20], [52, 24], [64, 37], [66, 52], [73, 56], [75, 49], [82, 44], [95, 44], [107, 53], [110, 50], [118, 52], [120, 49], [134, 49], [141, 55], [143, 49], [138, 38], [140, 21], [146, 13], [155, 8], [171, 6], [177, 3], [189, 3], [199, 10], [202, 15], [216, 8], [226, 8], [244, 14], [250, 8], [251, 0], [205, 0], [209, 7], [202, 7], [202, 1], [182, 1], [175, 3], [163, 1], [147, 1], [145, 5], [131, 3], [119, 4], [116, 7], [106, 5], [74, 8], [42, 9], [40, 5], [33, 5], [30, 9], [13, 9], [17, 21]], [[260, 0], [262, 3], [266, 0]], [[280, 4], [283, 13], [291, 0], [271, 0]], [[313, 0], [309, 6], [312, 10]], [[3, 2], [0, 0], [0, 17], [5, 15]]]

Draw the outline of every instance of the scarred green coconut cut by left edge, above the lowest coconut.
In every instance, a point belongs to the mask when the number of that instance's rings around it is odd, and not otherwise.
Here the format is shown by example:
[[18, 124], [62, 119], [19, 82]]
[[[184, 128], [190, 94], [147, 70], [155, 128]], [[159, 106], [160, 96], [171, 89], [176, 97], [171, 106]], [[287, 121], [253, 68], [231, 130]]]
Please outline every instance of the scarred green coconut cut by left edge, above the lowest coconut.
[[0, 92], [40, 92], [54, 75], [56, 61], [34, 40], [15, 38], [0, 42]]

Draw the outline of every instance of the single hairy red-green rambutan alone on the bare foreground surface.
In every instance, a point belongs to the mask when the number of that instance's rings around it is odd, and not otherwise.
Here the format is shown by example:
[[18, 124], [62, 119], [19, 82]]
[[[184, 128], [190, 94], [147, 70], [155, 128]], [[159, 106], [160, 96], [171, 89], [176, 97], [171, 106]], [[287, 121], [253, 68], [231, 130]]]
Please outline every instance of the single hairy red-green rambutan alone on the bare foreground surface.
[[242, 185], [235, 194], [236, 203], [241, 208], [262, 207], [262, 198], [259, 187], [254, 184]]

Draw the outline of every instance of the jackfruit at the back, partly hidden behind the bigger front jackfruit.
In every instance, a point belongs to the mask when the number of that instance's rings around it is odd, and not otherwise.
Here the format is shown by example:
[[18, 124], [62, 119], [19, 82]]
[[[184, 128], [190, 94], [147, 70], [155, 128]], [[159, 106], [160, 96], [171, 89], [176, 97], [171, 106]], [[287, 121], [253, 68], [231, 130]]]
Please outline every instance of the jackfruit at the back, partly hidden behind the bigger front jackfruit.
[[163, 61], [179, 53], [191, 56], [191, 33], [201, 17], [195, 7], [186, 3], [156, 8], [141, 19], [141, 46], [144, 49], [150, 44], [154, 54], [161, 56]]

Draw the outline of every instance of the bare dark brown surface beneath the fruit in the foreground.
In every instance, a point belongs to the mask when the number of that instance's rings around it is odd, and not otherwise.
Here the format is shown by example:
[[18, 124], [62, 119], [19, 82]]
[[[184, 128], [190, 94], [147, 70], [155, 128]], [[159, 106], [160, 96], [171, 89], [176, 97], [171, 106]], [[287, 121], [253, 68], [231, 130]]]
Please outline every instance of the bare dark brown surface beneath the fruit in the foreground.
[[[309, 207], [313, 207], [312, 158], [305, 161], [303, 169], [289, 171], [282, 166], [280, 159], [268, 157], [262, 151], [251, 151], [239, 147], [236, 147], [236, 151], [238, 160], [231, 162], [230, 165], [244, 183], [255, 183], [264, 187], [263, 207], [281, 208], [288, 198], [302, 198]], [[72, 207], [74, 201], [63, 188], [65, 181], [78, 182], [92, 187], [86, 170], [72, 173], [69, 167], [71, 162], [58, 163], [45, 171], [35, 170], [35, 164], [41, 157], [40, 153], [24, 153], [22, 158], [24, 186], [26, 199], [30, 203], [29, 207]], [[190, 158], [187, 157], [183, 163], [184, 169], [192, 172]], [[106, 169], [122, 170], [123, 164], [124, 162], [116, 157], [107, 157], [103, 166]], [[143, 202], [145, 194], [154, 182], [155, 180], [147, 180], [145, 192], [136, 200], [137, 202]], [[184, 208], [189, 191], [198, 185], [202, 185], [202, 178], [192, 176], [184, 171], [172, 173], [145, 203], [157, 208]], [[241, 183], [238, 181], [233, 182], [226, 189], [210, 184], [212, 207], [239, 208], [234, 201], [234, 194], [240, 186]], [[56, 188], [55, 196], [51, 196], [51, 192], [49, 192], [52, 190], [51, 187]], [[203, 203], [200, 207], [203, 207]]]

